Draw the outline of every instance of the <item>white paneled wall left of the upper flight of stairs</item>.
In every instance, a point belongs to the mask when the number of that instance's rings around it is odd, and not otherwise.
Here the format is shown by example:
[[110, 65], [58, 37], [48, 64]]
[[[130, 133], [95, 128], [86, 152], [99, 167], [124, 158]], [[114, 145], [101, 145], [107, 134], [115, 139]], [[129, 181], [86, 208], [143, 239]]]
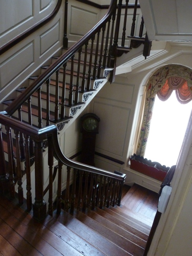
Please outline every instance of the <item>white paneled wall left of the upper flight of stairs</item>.
[[[57, 0], [8, 0], [0, 3], [0, 45], [48, 16]], [[64, 3], [56, 17], [0, 56], [0, 102], [58, 52], [63, 42]], [[26, 83], [27, 85], [27, 83]], [[11, 98], [12, 95], [10, 95]]]

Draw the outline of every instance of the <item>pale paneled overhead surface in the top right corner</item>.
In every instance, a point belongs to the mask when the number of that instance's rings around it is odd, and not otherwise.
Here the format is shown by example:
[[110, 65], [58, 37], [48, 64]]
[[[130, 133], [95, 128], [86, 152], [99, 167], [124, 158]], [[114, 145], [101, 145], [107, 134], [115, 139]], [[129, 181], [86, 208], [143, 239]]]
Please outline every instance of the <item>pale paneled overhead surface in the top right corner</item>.
[[148, 38], [192, 41], [191, 0], [139, 0]]

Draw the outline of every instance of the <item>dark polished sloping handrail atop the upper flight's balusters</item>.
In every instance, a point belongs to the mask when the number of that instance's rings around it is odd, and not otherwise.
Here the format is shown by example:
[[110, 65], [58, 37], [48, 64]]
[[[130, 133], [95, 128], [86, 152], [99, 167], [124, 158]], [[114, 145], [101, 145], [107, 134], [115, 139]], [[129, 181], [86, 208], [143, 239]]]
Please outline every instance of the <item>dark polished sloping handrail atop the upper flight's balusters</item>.
[[117, 6], [117, 0], [112, 0], [107, 14], [91, 29], [86, 35], [84, 35], [76, 44], [69, 48], [63, 55], [61, 55], [53, 64], [51, 64], [43, 74], [20, 94], [11, 105], [9, 105], [5, 111], [11, 116], [18, 108], [41, 87], [43, 83], [50, 78], [50, 76], [56, 72], [61, 65], [69, 60], [81, 47], [83, 47], [96, 33], [99, 31], [105, 22], [111, 18], [114, 8]]

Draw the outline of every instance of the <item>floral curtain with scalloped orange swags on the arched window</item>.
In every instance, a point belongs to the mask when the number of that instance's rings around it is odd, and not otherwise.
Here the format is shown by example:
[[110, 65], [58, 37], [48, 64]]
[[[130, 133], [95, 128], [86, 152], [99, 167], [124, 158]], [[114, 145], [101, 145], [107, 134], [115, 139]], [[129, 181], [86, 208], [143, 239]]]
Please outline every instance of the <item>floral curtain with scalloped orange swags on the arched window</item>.
[[144, 156], [145, 153], [156, 94], [159, 99], [165, 101], [173, 90], [176, 91], [177, 99], [181, 103], [187, 103], [192, 99], [192, 69], [170, 64], [159, 68], [148, 80], [136, 155]]

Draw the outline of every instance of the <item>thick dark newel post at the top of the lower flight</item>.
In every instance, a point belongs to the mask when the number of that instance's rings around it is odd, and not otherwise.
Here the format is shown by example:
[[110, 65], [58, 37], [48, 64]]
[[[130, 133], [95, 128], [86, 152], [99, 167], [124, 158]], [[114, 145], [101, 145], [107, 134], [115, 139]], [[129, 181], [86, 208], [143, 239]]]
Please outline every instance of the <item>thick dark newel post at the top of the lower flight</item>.
[[33, 204], [33, 217], [38, 220], [46, 217], [43, 183], [43, 142], [35, 141], [35, 203]]

